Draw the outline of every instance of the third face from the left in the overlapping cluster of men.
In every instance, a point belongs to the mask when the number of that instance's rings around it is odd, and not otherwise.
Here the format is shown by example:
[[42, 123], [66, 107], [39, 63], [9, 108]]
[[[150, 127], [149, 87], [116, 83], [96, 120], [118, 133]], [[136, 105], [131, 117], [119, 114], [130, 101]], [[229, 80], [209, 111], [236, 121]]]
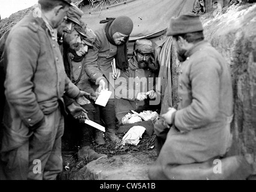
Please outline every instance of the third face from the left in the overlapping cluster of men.
[[78, 50], [79, 44], [81, 43], [81, 37], [79, 33], [73, 29], [70, 34], [64, 34], [63, 40], [69, 45], [70, 49]]

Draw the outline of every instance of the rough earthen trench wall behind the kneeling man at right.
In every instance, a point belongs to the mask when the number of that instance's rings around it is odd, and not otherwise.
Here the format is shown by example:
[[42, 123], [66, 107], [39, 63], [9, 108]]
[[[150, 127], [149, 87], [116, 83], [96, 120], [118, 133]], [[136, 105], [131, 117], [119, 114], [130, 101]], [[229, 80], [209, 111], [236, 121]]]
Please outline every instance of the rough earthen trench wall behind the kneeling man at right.
[[231, 154], [252, 154], [256, 168], [256, 4], [230, 7], [203, 22], [206, 38], [227, 59], [233, 75]]

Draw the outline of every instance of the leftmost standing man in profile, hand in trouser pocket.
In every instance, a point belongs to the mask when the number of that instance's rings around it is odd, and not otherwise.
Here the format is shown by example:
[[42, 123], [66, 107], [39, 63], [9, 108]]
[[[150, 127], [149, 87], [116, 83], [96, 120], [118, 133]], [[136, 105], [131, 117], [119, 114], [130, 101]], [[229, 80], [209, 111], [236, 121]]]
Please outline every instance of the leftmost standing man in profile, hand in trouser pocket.
[[62, 172], [62, 96], [84, 103], [87, 95], [67, 77], [57, 43], [70, 2], [39, 0], [8, 34], [0, 179], [56, 179]]

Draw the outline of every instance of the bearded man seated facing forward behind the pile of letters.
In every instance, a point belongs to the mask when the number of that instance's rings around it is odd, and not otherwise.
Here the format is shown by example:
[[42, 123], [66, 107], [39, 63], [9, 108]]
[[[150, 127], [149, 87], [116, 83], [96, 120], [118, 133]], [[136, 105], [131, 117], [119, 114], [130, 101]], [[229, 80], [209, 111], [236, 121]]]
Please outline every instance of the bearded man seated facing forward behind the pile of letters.
[[[116, 116], [118, 123], [122, 124], [122, 118], [131, 110], [142, 112], [143, 110], [153, 110], [150, 100], [156, 98], [154, 85], [159, 71], [159, 65], [154, 60], [154, 48], [150, 40], [136, 40], [133, 50], [133, 58], [129, 59], [129, 68], [122, 71], [120, 75], [120, 85], [115, 91]], [[129, 84], [129, 78], [134, 83]], [[141, 85], [136, 88], [134, 85]], [[127, 90], [119, 92], [118, 90]]]

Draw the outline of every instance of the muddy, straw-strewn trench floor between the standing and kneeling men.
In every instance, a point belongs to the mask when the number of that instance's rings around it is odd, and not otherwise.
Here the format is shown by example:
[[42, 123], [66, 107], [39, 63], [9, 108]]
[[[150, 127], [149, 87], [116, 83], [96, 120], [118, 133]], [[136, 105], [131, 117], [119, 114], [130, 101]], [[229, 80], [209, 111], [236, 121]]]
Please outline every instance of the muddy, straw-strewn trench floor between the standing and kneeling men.
[[[146, 122], [147, 123], [151, 122]], [[138, 124], [131, 124], [130, 127]], [[118, 137], [123, 138], [129, 127], [120, 128]], [[123, 133], [122, 133], [123, 131]], [[91, 148], [94, 151], [108, 155], [108, 158], [93, 161], [79, 161], [78, 145], [72, 145], [65, 136], [62, 137], [63, 172], [59, 180], [147, 180], [148, 168], [157, 158], [153, 124], [147, 127], [137, 146], [114, 145], [106, 140], [106, 145], [98, 146], [94, 139]]]

